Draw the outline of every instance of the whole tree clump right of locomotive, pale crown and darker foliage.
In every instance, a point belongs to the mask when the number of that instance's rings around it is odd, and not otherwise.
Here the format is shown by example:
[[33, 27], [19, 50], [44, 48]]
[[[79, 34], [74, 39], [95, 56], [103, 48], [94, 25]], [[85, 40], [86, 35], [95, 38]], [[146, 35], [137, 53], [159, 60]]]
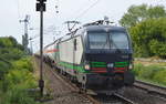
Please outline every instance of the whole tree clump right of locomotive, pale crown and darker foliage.
[[128, 29], [135, 56], [166, 59], [166, 10], [164, 6], [131, 6], [120, 23]]

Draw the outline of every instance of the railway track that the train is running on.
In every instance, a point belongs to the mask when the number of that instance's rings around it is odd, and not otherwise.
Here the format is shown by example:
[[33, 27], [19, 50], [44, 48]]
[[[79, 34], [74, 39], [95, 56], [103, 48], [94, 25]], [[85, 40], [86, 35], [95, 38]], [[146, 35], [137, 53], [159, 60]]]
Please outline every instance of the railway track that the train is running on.
[[[62, 82], [64, 82], [65, 84], [68, 84], [68, 86], [70, 89], [75, 90], [75, 92], [80, 93], [81, 89], [77, 87], [74, 83], [70, 82], [65, 76], [58, 74], [56, 71], [54, 71], [53, 69], [50, 70], [51, 73], [53, 73], [53, 75], [55, 77], [58, 77], [59, 80], [61, 80]], [[86, 97], [86, 101], [84, 102], [91, 102], [92, 104], [136, 104], [133, 101], [120, 95], [120, 94], [112, 94], [112, 95], [89, 95], [84, 92], [81, 93], [84, 97]]]

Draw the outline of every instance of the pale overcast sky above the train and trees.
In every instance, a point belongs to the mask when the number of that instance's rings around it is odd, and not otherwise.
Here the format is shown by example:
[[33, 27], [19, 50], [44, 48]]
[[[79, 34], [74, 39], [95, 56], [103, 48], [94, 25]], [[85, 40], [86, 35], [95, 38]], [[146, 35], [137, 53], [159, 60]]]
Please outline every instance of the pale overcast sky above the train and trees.
[[[0, 6], [0, 37], [12, 35], [21, 43], [23, 23], [19, 20], [30, 15], [29, 37], [39, 35], [39, 12], [35, 11], [37, 0], [1, 0]], [[132, 4], [163, 4], [165, 0], [48, 0], [44, 12], [44, 44], [53, 41], [55, 32], [65, 29], [64, 22], [77, 20], [82, 24], [101, 20], [107, 15], [110, 20], [118, 22]], [[59, 13], [55, 11], [58, 6]], [[91, 7], [91, 8], [90, 8]], [[33, 40], [33, 48], [39, 49], [39, 38]]]

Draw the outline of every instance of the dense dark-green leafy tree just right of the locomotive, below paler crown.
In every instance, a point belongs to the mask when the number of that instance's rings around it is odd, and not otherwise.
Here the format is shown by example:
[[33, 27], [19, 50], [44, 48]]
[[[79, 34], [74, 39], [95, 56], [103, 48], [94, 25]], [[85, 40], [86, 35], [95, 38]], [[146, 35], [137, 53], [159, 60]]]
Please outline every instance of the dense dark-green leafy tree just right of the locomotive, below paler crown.
[[148, 19], [129, 29], [137, 56], [166, 58], [166, 18]]

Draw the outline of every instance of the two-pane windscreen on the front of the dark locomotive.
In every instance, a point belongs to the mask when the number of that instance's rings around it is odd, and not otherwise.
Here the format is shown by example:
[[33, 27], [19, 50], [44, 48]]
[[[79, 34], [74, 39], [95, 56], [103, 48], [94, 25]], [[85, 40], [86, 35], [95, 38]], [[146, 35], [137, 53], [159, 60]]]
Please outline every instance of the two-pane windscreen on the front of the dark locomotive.
[[89, 32], [90, 49], [128, 49], [128, 35], [126, 32]]

